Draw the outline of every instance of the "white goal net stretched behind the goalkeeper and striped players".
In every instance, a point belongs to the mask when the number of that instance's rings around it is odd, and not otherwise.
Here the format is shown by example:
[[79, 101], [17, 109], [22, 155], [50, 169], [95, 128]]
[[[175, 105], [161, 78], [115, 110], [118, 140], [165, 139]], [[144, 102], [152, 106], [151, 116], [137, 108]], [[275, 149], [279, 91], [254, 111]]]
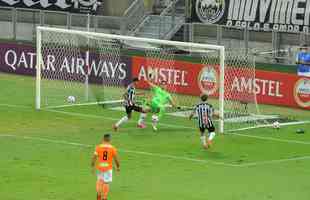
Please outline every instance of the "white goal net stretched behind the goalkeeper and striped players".
[[181, 109], [167, 105], [167, 111], [177, 117], [188, 117], [199, 96], [208, 94], [220, 132], [224, 125], [230, 131], [263, 121], [251, 56], [217, 45], [37, 28], [37, 109], [120, 106], [133, 77], [146, 93], [146, 79], [169, 91]]

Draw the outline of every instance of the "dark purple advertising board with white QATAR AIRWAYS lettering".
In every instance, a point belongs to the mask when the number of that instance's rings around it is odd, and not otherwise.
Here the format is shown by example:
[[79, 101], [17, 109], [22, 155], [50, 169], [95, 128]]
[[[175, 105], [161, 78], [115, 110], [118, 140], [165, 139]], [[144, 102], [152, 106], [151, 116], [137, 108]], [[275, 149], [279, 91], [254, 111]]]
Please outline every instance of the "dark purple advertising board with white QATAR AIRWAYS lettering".
[[[41, 75], [49, 79], [84, 81], [88, 75], [90, 83], [104, 85], [126, 85], [131, 77], [131, 58], [120, 57], [113, 61], [101, 58], [90, 52], [79, 55], [68, 50], [64, 55], [44, 52], [42, 55]], [[36, 53], [30, 46], [0, 45], [0, 71], [25, 75], [36, 75]]]

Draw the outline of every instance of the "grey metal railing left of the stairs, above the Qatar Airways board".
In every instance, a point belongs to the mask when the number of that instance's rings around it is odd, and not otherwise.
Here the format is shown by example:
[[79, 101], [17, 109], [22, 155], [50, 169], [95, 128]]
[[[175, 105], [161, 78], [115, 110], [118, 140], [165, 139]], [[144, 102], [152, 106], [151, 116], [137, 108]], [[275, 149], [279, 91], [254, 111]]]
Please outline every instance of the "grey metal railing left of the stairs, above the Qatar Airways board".
[[[115, 17], [0, 7], [0, 39], [34, 42], [35, 29], [39, 25], [78, 30], [88, 30], [89, 27], [95, 32], [126, 34], [134, 23], [138, 23], [130, 17], [133, 12], [129, 10], [127, 16]], [[130, 24], [126, 24], [128, 22]]]

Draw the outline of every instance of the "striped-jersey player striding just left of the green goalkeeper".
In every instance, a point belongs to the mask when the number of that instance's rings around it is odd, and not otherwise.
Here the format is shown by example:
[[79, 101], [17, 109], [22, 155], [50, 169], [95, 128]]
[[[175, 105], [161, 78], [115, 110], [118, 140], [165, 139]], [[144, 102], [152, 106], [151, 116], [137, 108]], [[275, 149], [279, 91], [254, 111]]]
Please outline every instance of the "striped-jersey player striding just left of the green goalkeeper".
[[[138, 81], [139, 81], [138, 78], [133, 78], [132, 82], [127, 86], [127, 89], [125, 93], [123, 94], [123, 98], [124, 98], [123, 105], [126, 109], [126, 116], [122, 117], [118, 122], [116, 122], [113, 125], [113, 129], [115, 131], [117, 131], [118, 127], [121, 124], [127, 122], [131, 118], [133, 110], [136, 112], [140, 112], [143, 118], [145, 118], [146, 116], [146, 113], [143, 110], [143, 108], [141, 106], [136, 105], [136, 101], [135, 101], [136, 95], [139, 95], [139, 94], [136, 94], [136, 87], [135, 87], [135, 83]], [[144, 128], [144, 127], [140, 127], [140, 128]]]

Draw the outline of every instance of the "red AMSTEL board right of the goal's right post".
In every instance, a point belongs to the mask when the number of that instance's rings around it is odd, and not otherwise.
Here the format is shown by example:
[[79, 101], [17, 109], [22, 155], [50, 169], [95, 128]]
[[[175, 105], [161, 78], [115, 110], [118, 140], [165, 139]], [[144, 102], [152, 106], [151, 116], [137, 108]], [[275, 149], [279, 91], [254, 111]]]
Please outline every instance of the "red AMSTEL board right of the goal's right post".
[[236, 76], [231, 92], [254, 92], [257, 102], [310, 110], [310, 78], [271, 71], [255, 71], [255, 79]]

